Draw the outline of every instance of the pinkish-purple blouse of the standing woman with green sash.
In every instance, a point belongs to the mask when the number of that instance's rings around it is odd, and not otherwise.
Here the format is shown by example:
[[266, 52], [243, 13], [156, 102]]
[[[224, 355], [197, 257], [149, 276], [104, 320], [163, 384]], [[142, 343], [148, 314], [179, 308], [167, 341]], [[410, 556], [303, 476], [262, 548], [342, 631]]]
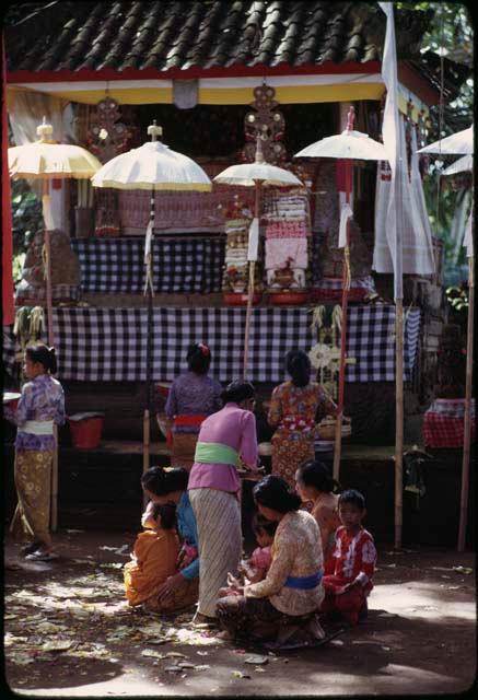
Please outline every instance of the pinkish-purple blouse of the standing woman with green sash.
[[[256, 417], [233, 404], [202, 421], [199, 442], [219, 442], [236, 450], [249, 467], [257, 464]], [[237, 469], [229, 464], [195, 462], [189, 474], [189, 489], [218, 489], [235, 493], [241, 488]]]

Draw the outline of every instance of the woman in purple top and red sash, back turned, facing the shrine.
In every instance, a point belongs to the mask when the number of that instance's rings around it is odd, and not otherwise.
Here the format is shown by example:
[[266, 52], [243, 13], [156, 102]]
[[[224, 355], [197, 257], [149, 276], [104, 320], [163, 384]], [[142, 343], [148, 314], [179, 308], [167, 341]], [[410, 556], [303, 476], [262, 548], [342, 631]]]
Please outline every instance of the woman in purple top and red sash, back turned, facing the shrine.
[[176, 377], [167, 395], [165, 412], [171, 444], [171, 466], [190, 469], [199, 428], [205, 418], [221, 408], [222, 387], [208, 376], [211, 351], [203, 342], [189, 347], [188, 372]]

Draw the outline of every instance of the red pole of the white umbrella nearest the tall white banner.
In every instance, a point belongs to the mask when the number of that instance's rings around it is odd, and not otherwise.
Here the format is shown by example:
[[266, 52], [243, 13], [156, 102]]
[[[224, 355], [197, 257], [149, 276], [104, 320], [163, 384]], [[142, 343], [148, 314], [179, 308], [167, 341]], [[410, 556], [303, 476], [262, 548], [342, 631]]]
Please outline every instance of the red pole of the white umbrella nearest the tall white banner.
[[[352, 164], [349, 159], [346, 161], [346, 201], [350, 203], [351, 172]], [[346, 385], [346, 360], [347, 360], [347, 311], [349, 304], [350, 289], [350, 219], [347, 220], [347, 245], [343, 252], [343, 278], [342, 278], [342, 323], [340, 332], [340, 365], [339, 365], [339, 395], [337, 405], [337, 422], [334, 445], [334, 467], [333, 476], [336, 481], [340, 475], [340, 457], [342, 451], [342, 422]]]

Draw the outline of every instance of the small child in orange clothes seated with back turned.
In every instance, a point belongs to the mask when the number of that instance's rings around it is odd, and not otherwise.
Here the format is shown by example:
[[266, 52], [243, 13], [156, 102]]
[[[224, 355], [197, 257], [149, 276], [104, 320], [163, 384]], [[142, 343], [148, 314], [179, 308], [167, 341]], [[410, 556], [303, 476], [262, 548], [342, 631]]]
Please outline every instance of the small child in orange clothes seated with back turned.
[[[144, 514], [145, 515], [145, 514]], [[176, 506], [153, 504], [142, 517], [145, 528], [136, 539], [132, 561], [125, 564], [125, 592], [129, 605], [140, 605], [153, 596], [168, 576], [176, 573], [179, 542]]]

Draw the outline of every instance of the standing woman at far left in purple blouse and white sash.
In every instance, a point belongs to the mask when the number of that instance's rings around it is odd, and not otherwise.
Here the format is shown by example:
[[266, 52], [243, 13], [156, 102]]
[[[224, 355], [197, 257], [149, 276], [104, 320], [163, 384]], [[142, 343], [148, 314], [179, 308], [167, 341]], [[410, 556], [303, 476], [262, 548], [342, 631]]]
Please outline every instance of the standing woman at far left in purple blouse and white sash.
[[54, 423], [65, 422], [63, 389], [51, 376], [56, 371], [54, 348], [40, 342], [26, 348], [24, 373], [28, 382], [16, 410], [5, 407], [5, 418], [18, 427], [14, 475], [19, 502], [10, 529], [28, 541], [23, 553], [39, 561], [55, 557], [49, 529]]

